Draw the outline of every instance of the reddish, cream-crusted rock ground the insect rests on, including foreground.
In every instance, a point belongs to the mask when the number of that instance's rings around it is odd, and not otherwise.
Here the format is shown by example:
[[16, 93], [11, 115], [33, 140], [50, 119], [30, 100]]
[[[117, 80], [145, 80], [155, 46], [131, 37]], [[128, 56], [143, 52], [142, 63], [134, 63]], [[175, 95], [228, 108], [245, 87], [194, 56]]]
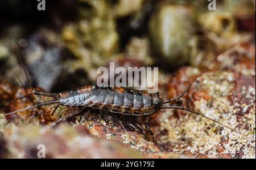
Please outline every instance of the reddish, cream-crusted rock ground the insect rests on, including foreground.
[[[171, 98], [200, 74], [182, 67], [163, 76], [160, 92]], [[0, 85], [0, 99], [24, 95], [22, 88]], [[36, 98], [42, 101], [45, 98]], [[155, 143], [142, 134], [112, 127], [108, 119], [90, 113], [79, 115], [56, 128], [48, 126], [74, 109], [53, 106], [0, 117], [0, 157], [36, 157], [38, 144], [47, 157], [209, 157], [255, 158], [255, 46], [235, 45], [217, 57], [209, 70], [193, 83], [188, 94], [175, 104], [199, 111], [245, 136], [208, 119], [180, 110], [160, 110], [151, 115]], [[22, 109], [28, 99], [1, 107], [1, 113]]]

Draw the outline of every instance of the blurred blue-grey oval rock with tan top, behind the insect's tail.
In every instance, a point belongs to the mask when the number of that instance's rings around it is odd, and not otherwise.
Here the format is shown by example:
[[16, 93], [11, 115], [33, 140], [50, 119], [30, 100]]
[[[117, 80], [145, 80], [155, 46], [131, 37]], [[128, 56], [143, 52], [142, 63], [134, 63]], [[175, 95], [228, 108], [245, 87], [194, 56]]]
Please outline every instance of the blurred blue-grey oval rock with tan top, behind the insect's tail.
[[[63, 74], [61, 44], [55, 32], [41, 28], [28, 38], [24, 60], [36, 86], [50, 91]], [[47, 80], [47, 81], [46, 81]]]

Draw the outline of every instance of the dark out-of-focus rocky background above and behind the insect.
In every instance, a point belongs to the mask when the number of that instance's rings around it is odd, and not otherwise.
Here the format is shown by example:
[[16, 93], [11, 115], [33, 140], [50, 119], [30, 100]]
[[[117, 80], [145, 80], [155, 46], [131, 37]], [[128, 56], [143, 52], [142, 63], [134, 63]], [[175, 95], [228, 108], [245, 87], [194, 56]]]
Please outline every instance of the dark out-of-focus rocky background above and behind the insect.
[[[24, 74], [61, 92], [96, 84], [97, 68], [159, 67], [159, 81], [184, 65], [205, 67], [232, 45], [255, 44], [255, 1], [4, 0], [0, 2], [0, 80]], [[161, 79], [161, 77], [163, 77]]]

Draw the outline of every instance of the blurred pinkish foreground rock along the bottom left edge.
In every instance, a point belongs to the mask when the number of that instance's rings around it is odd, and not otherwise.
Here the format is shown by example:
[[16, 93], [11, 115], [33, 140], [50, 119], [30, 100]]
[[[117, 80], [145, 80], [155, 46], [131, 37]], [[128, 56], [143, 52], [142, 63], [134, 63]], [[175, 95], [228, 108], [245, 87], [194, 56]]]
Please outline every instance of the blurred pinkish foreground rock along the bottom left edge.
[[[142, 158], [137, 151], [118, 142], [93, 138], [85, 127], [13, 126], [3, 131], [1, 139], [5, 142], [2, 158]], [[38, 154], [39, 148], [44, 148], [45, 155]]]

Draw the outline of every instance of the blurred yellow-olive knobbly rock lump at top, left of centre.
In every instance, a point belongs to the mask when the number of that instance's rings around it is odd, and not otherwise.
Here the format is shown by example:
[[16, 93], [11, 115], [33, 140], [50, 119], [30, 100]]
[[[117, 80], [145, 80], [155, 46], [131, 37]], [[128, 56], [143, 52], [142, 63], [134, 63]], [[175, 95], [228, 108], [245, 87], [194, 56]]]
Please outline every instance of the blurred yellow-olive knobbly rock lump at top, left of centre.
[[82, 57], [78, 53], [82, 47], [88, 48], [102, 58], [117, 52], [118, 34], [115, 31], [114, 16], [109, 4], [105, 1], [89, 0], [80, 3], [85, 7], [79, 8], [78, 21], [67, 25], [63, 30], [63, 39], [67, 47], [77, 54], [77, 57]]

